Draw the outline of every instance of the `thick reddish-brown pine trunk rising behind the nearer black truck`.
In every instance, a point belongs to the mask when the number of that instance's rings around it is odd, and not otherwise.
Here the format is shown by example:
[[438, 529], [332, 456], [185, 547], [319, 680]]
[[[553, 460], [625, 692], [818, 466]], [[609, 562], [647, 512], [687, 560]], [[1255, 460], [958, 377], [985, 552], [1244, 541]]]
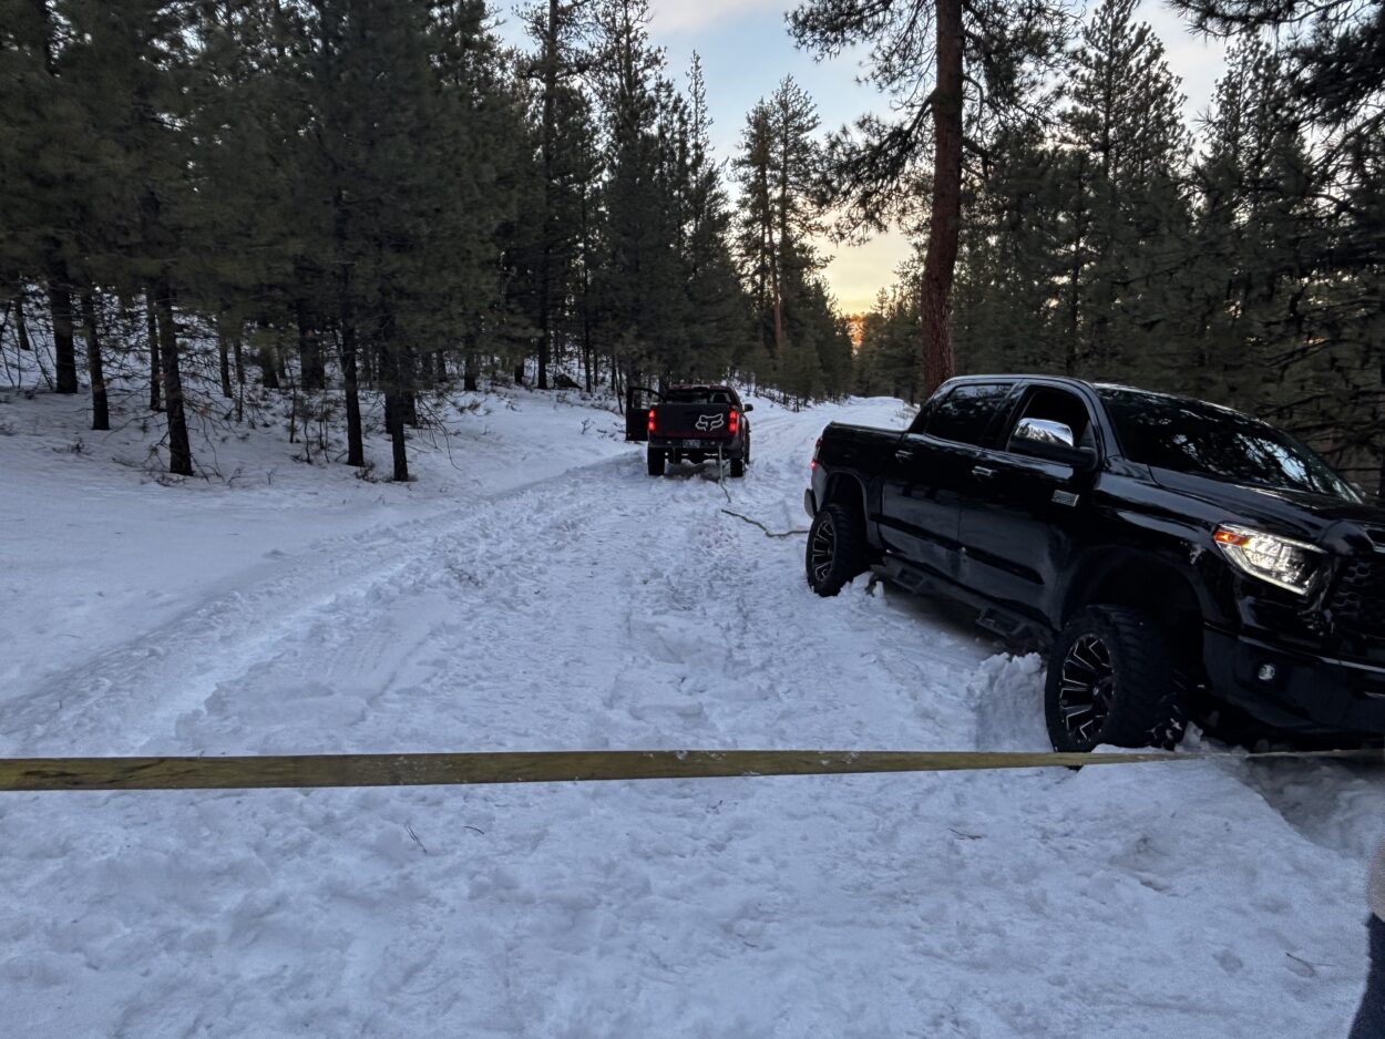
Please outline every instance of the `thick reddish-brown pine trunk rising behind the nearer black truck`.
[[938, 0], [938, 73], [933, 89], [933, 198], [924, 256], [924, 393], [953, 375], [951, 287], [961, 233], [961, 0]]

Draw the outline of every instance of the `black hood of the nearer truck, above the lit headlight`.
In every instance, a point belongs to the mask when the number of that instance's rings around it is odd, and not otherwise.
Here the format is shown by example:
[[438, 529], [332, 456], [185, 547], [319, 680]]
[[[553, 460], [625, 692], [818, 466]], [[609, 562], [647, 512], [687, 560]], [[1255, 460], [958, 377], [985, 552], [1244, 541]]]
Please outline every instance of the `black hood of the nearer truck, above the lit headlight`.
[[[1385, 532], [1385, 508], [1346, 501], [1331, 495], [1274, 490], [1230, 483], [1191, 472], [1150, 467], [1154, 482], [1166, 490], [1202, 501], [1226, 513], [1226, 522], [1263, 525], [1270, 532], [1321, 542], [1328, 528], [1368, 528]], [[1199, 510], [1201, 511], [1201, 510]]]

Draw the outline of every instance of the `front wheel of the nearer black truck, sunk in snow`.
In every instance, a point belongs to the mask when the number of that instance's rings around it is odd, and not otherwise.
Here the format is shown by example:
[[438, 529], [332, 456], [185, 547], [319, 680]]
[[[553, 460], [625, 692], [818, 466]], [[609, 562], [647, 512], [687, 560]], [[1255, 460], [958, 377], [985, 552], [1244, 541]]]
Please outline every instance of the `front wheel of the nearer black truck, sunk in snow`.
[[1055, 751], [1098, 744], [1173, 749], [1187, 727], [1187, 672], [1154, 618], [1096, 605], [1062, 629], [1048, 657], [1044, 720]]

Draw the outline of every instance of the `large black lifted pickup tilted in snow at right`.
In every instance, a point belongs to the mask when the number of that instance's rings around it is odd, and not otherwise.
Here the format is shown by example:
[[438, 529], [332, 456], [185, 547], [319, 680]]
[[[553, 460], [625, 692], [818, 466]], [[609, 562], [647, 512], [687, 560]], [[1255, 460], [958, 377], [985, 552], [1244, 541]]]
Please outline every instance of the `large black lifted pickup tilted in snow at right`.
[[805, 506], [819, 594], [875, 568], [1046, 648], [1057, 749], [1385, 731], [1385, 510], [1237, 411], [957, 378], [906, 431], [828, 425]]

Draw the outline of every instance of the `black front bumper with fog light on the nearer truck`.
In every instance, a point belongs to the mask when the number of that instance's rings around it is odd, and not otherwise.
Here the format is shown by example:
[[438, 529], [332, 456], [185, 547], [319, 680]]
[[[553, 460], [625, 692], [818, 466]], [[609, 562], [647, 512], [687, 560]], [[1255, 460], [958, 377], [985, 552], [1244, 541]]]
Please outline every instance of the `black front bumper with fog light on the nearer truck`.
[[1385, 736], [1385, 666], [1213, 628], [1205, 632], [1205, 661], [1216, 694], [1276, 729]]

